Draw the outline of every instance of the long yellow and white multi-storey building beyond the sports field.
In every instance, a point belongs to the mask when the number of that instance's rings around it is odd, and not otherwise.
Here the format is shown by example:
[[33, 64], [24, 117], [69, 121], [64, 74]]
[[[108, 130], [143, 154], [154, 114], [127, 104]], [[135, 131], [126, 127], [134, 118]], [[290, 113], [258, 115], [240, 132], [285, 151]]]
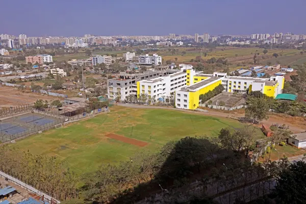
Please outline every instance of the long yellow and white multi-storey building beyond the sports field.
[[157, 101], [175, 94], [176, 108], [194, 110], [199, 107], [199, 96], [212, 91], [220, 84], [226, 92], [261, 91], [274, 98], [284, 89], [285, 79], [281, 76], [270, 79], [231, 77], [222, 72], [202, 74], [196, 72], [192, 65], [180, 64], [179, 66], [181, 67], [179, 72], [137, 82], [137, 96], [147, 94], [150, 101], [153, 98]]

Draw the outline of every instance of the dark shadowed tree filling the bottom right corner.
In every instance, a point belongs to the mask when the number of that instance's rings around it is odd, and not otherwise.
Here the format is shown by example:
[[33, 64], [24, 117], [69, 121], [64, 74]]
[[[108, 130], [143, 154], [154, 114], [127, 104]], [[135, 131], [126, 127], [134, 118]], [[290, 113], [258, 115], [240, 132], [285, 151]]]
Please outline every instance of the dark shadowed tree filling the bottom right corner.
[[306, 200], [306, 163], [291, 164], [288, 169], [281, 171], [276, 178], [275, 193], [277, 203], [304, 203]]

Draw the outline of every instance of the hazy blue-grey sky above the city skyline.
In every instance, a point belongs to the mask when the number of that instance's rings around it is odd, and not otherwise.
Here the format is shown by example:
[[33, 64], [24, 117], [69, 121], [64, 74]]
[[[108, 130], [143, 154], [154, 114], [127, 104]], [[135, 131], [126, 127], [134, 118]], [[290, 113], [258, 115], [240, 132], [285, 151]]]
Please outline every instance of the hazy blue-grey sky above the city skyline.
[[306, 0], [11, 0], [0, 5], [0, 33], [13, 35], [306, 34]]

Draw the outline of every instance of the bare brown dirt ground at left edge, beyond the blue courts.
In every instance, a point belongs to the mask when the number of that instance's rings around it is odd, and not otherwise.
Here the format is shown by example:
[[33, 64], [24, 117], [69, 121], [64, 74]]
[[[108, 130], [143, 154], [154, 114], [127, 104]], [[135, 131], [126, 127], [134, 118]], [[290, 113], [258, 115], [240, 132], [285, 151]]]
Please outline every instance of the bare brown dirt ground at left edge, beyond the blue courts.
[[63, 98], [32, 93], [29, 90], [25, 90], [23, 93], [13, 87], [0, 86], [0, 108], [32, 104], [37, 99], [52, 101], [56, 99], [62, 100]]

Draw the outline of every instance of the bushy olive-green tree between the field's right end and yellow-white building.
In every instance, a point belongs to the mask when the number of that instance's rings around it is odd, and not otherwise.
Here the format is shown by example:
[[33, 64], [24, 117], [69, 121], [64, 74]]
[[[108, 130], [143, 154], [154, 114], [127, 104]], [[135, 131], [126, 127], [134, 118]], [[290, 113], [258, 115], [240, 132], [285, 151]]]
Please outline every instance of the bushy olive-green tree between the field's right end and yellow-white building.
[[248, 97], [246, 104], [245, 117], [253, 119], [253, 123], [268, 119], [269, 104], [265, 98]]

